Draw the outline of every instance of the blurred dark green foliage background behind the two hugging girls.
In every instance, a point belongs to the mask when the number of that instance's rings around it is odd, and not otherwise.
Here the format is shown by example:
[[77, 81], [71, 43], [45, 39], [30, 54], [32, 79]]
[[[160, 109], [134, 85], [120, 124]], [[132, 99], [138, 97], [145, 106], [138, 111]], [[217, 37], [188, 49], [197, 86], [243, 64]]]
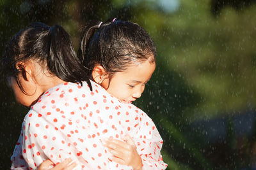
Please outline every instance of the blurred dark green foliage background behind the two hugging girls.
[[[157, 46], [157, 68], [136, 102], [164, 139], [168, 169], [243, 169], [255, 164], [255, 127], [237, 136], [232, 117], [255, 112], [256, 6], [253, 1], [177, 0], [0, 1], [1, 53], [29, 22], [60, 24], [77, 48], [87, 20], [120, 18], [140, 24]], [[170, 1], [169, 1], [170, 3]], [[10, 168], [26, 108], [0, 83], [0, 169]], [[225, 140], [205, 139], [195, 122], [227, 120]]]

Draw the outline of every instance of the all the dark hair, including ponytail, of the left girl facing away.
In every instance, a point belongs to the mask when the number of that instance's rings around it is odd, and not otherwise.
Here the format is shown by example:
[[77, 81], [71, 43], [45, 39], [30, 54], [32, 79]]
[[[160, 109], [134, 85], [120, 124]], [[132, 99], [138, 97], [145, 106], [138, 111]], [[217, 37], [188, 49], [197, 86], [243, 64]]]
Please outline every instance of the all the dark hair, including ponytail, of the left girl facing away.
[[[50, 74], [69, 82], [87, 81], [90, 89], [92, 85], [84, 72], [87, 68], [81, 64], [68, 33], [60, 25], [49, 27], [41, 22], [33, 22], [19, 31], [6, 45], [1, 62], [3, 74], [13, 76], [20, 85], [19, 73], [24, 75], [24, 68], [17, 69], [19, 61], [35, 60], [45, 66]], [[26, 78], [26, 76], [24, 77]], [[26, 92], [24, 92], [26, 93]]]

